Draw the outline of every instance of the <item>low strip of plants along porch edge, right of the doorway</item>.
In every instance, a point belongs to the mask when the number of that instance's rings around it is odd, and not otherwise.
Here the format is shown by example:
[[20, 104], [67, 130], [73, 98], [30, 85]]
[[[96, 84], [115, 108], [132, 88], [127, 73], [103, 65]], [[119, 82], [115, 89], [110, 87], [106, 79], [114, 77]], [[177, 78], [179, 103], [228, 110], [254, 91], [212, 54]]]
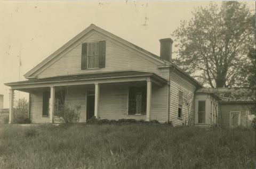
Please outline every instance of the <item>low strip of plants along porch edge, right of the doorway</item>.
[[108, 119], [96, 119], [95, 117], [93, 117], [90, 120], [86, 121], [86, 124], [119, 124], [119, 125], [123, 125], [123, 124], [135, 124], [135, 123], [145, 123], [145, 124], [159, 124], [159, 122], [157, 120], [151, 120], [149, 122], [146, 122], [144, 120], [135, 120], [135, 119], [119, 119], [119, 120], [108, 120]]

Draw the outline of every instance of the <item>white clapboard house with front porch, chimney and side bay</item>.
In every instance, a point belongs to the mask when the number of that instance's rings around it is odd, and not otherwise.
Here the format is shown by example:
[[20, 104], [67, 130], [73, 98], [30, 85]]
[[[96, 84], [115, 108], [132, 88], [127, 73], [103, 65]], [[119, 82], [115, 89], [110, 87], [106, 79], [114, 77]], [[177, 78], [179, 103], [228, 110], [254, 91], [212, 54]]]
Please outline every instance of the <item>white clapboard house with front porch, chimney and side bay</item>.
[[29, 93], [31, 123], [56, 122], [54, 107], [64, 93], [62, 102], [81, 106], [80, 122], [95, 116], [214, 124], [219, 98], [200, 92], [203, 86], [170, 62], [171, 38], [159, 41], [156, 56], [91, 24], [26, 73], [28, 80], [5, 84], [11, 87], [9, 123], [14, 90], [19, 90]]

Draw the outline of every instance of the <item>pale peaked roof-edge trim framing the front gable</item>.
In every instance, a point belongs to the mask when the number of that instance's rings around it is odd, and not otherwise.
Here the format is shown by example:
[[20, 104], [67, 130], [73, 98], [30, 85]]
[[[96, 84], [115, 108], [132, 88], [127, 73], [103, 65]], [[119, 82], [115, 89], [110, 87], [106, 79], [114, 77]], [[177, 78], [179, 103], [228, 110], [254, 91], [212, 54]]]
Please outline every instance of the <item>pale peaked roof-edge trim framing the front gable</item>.
[[58, 50], [56, 50], [53, 54], [51, 54], [50, 56], [48, 56], [47, 58], [45, 58], [45, 60], [43, 60], [41, 63], [37, 64], [33, 69], [31, 69], [30, 71], [28, 71], [26, 74], [24, 74], [25, 78], [29, 79], [29, 76], [32, 75], [34, 72], [36, 72], [37, 70], [39, 70], [41, 67], [43, 67], [45, 64], [49, 63], [51, 60], [53, 60], [53, 58], [57, 57], [61, 52], [63, 52], [63, 50], [65, 50], [66, 48], [70, 47], [71, 45], [73, 45], [77, 40], [81, 39], [82, 37], [84, 37], [86, 35], [86, 33], [88, 33], [91, 30], [95, 30], [98, 31], [100, 33], [103, 33], [103, 35], [106, 35], [108, 37], [111, 37], [115, 40], [117, 40], [119, 43], [122, 43], [126, 46], [129, 46], [135, 50], [137, 50], [140, 53], [146, 54], [148, 57], [153, 58], [155, 61], [159, 62], [162, 65], [171, 65], [170, 62], [163, 60], [161, 57], [148, 52], [147, 50], [134, 45], [132, 43], [130, 43], [129, 41], [126, 41], [106, 30], [103, 30], [97, 26], [95, 26], [94, 24], [91, 24], [89, 27], [87, 27], [86, 29], [84, 29], [81, 33], [79, 33], [77, 36], [75, 36], [73, 39], [69, 40], [65, 45], [63, 45], [62, 47], [60, 47]]

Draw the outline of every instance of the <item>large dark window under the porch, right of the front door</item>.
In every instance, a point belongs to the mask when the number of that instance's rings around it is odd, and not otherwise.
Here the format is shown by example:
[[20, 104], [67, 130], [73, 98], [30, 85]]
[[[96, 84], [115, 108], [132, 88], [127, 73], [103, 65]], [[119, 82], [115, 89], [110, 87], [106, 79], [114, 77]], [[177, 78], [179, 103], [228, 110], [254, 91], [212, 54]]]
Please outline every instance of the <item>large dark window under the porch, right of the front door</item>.
[[128, 114], [146, 114], [147, 109], [147, 87], [130, 87]]

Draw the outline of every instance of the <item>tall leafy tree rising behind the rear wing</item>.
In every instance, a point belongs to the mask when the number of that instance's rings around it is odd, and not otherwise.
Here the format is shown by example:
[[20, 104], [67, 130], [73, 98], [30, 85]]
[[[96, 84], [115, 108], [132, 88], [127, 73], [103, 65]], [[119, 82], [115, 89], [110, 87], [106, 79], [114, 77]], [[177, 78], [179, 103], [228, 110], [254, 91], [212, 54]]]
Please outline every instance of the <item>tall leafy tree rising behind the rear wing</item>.
[[255, 15], [242, 2], [210, 3], [193, 12], [173, 32], [179, 57], [173, 62], [204, 85], [230, 87], [241, 78], [241, 67], [253, 43]]

